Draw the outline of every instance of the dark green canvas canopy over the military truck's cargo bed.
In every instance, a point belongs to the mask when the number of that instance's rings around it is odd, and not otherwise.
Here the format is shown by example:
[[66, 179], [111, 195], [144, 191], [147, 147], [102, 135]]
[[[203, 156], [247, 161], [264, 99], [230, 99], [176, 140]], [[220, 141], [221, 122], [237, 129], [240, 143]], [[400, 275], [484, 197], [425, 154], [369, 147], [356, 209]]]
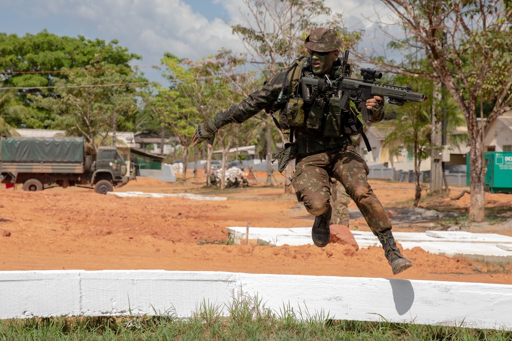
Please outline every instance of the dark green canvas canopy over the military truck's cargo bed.
[[82, 163], [83, 138], [2, 139], [3, 162]]

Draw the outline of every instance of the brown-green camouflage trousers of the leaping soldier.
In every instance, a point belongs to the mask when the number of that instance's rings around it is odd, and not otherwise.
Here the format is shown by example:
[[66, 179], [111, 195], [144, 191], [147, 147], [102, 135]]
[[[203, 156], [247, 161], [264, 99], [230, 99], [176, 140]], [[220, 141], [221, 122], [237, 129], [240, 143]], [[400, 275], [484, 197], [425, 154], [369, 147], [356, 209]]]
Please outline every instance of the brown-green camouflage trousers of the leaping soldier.
[[292, 185], [306, 210], [318, 216], [327, 211], [331, 189], [329, 178], [338, 180], [354, 200], [374, 235], [391, 229], [391, 222], [368, 184], [368, 165], [353, 146], [298, 157]]

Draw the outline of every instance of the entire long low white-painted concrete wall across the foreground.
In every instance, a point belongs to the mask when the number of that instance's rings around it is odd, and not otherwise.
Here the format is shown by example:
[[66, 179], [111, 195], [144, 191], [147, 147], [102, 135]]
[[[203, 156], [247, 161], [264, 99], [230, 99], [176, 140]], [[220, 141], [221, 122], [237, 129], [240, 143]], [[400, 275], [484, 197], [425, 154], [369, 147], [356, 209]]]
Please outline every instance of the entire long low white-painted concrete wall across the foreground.
[[[234, 298], [333, 319], [512, 329], [512, 285], [213, 271], [0, 271], [0, 319], [169, 314]], [[309, 316], [303, 316], [305, 319]]]

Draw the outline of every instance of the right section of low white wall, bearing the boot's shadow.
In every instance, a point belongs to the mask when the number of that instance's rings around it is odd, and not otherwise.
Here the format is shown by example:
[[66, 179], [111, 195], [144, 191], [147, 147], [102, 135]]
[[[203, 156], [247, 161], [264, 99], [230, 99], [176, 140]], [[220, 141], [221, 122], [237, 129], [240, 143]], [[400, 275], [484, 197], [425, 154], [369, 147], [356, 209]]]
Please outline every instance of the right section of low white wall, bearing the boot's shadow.
[[[324, 311], [340, 320], [380, 321], [380, 314], [391, 322], [512, 328], [510, 285], [327, 276], [284, 280], [283, 276], [245, 274], [242, 287], [249, 294], [258, 293], [278, 312], [284, 302], [295, 311]], [[259, 285], [263, 282], [264, 287]]]

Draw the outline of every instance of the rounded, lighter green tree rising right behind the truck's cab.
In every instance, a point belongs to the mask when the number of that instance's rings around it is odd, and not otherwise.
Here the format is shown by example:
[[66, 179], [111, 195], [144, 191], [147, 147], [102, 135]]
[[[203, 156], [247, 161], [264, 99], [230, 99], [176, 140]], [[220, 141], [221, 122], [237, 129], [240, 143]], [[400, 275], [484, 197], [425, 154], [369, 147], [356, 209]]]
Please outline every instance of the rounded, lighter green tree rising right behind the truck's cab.
[[[55, 81], [57, 88], [52, 96], [29, 95], [28, 98], [38, 108], [52, 112], [54, 127], [66, 130], [68, 135], [84, 137], [94, 148], [97, 141], [104, 145], [106, 137], [115, 133], [118, 126], [133, 127], [127, 124], [138, 111], [136, 83], [139, 81], [133, 73], [120, 74], [106, 66], [99, 62], [87, 66], [88, 72], [70, 72], [68, 78]], [[112, 144], [115, 145], [115, 140]]]

